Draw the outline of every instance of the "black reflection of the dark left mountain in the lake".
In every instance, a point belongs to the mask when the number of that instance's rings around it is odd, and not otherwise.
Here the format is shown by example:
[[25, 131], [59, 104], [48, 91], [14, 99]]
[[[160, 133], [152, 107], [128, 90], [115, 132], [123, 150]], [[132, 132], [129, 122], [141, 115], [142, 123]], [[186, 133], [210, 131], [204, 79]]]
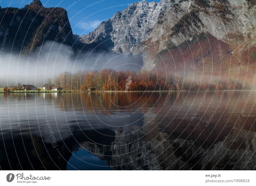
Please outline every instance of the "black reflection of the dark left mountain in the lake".
[[[89, 138], [96, 143], [110, 145], [115, 137], [106, 137], [93, 131], [83, 131], [74, 137], [57, 142], [58, 147], [52, 148], [51, 143], [45, 143], [41, 137], [30, 135], [30, 132], [21, 131], [13, 136], [4, 135], [4, 142], [0, 140], [0, 166], [2, 170], [66, 170], [68, 159], [72, 151], [76, 151], [77, 142], [88, 141]], [[115, 135], [113, 131], [100, 130], [100, 132]], [[22, 135], [20, 135], [22, 134]], [[86, 137], [87, 136], [87, 137]], [[13, 139], [13, 140], [12, 140]]]

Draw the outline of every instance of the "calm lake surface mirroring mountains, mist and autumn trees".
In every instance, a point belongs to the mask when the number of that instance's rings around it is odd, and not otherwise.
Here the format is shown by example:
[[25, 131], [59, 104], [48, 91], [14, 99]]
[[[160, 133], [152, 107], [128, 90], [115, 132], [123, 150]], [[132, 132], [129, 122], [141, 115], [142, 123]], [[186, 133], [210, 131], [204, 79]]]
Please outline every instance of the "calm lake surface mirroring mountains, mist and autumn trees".
[[2, 170], [253, 170], [250, 91], [1, 93]]

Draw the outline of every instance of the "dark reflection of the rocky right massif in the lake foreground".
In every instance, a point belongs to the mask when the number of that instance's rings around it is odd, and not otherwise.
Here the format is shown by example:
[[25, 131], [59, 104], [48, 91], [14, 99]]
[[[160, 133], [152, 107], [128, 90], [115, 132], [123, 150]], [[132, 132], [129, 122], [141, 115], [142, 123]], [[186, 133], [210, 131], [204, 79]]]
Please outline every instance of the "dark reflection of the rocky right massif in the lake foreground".
[[[207, 130], [203, 132], [196, 130], [191, 133], [191, 130], [195, 127], [192, 124], [183, 132], [183, 135], [180, 135], [182, 129], [187, 127], [188, 122], [185, 120], [175, 122], [177, 124], [180, 123], [180, 128], [178, 131], [172, 133], [169, 138], [167, 136], [176, 127], [174, 124], [161, 134], [159, 134], [161, 128], [153, 129], [153, 125], [144, 128], [143, 132], [140, 130], [140, 132], [132, 134], [130, 132], [135, 131], [138, 127], [119, 128], [115, 131], [116, 138], [111, 143], [111, 147], [102, 147], [101, 145], [90, 142], [83, 142], [81, 144], [85, 149], [95, 154], [112, 152], [111, 157], [97, 156], [100, 159], [106, 160], [107, 165], [112, 166], [116, 170], [163, 170], [168, 166], [170, 166], [170, 170], [189, 170], [190, 168], [195, 170], [230, 170], [233, 167], [235, 170], [241, 170], [243, 168], [245, 170], [252, 170], [256, 165], [256, 155], [254, 154], [256, 142], [253, 140], [256, 135], [255, 130], [248, 133], [248, 130], [243, 129], [239, 133], [239, 128], [235, 129], [232, 125], [228, 124], [224, 129], [217, 127], [212, 135], [209, 136], [210, 131]], [[224, 131], [223, 134], [217, 137], [222, 129]], [[152, 131], [147, 133], [149, 130]], [[230, 131], [229, 136], [225, 137], [225, 134], [228, 134]], [[202, 134], [200, 135], [201, 132]], [[126, 134], [128, 135], [123, 136]], [[188, 134], [191, 135], [188, 137]], [[179, 138], [177, 138], [178, 135], [180, 136]], [[152, 140], [153, 138], [155, 139]], [[153, 152], [146, 153], [164, 138], [167, 139], [167, 142], [159, 145]], [[215, 139], [217, 140], [215, 141]], [[146, 154], [146, 156], [140, 159], [137, 158], [143, 154]], [[171, 167], [175, 159], [180, 156], [182, 159]], [[248, 160], [249, 162], [247, 162]]]

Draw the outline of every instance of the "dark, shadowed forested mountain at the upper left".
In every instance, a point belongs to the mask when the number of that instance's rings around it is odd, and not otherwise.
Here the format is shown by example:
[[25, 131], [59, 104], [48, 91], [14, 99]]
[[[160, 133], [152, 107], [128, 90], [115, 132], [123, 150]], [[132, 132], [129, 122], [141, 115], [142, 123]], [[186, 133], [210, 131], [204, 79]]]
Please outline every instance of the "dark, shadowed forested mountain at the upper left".
[[7, 40], [4, 50], [28, 55], [45, 41], [73, 44], [67, 11], [59, 7], [45, 8], [40, 0], [21, 9], [0, 8], [0, 19], [0, 40], [4, 37]]

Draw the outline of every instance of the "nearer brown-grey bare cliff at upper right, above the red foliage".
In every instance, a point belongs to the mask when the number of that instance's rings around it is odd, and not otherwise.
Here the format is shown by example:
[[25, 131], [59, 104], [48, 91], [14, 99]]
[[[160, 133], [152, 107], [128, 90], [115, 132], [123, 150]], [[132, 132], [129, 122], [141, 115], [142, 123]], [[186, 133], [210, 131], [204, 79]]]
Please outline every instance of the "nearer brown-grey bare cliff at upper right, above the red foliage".
[[[143, 44], [147, 47], [142, 48], [141, 51], [147, 50], [150, 45], [163, 54], [164, 50], [177, 48], [184, 42], [188, 46], [186, 41], [203, 32], [211, 34], [222, 43], [228, 43], [229, 52], [236, 53], [239, 46], [243, 48], [245, 45], [251, 47], [256, 44], [254, 1], [162, 0], [161, 3], [169, 4], [151, 31], [150, 38], [144, 41]], [[198, 39], [200, 38], [196, 37], [196, 40]], [[211, 50], [209, 52], [212, 52]], [[226, 57], [230, 58], [230, 55]], [[144, 62], [148, 69], [153, 68], [150, 62]]]

